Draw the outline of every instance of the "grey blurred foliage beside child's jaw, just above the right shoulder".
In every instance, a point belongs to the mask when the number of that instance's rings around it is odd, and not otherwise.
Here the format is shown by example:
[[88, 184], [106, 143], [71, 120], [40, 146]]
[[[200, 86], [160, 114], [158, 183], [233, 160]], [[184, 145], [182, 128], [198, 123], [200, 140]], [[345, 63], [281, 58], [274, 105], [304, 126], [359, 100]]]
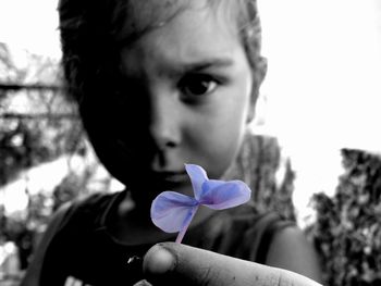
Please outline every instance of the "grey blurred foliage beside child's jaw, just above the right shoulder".
[[276, 138], [246, 136], [229, 178], [242, 179], [250, 186], [258, 212], [271, 210], [296, 220], [292, 200], [295, 173], [290, 158], [282, 156]]

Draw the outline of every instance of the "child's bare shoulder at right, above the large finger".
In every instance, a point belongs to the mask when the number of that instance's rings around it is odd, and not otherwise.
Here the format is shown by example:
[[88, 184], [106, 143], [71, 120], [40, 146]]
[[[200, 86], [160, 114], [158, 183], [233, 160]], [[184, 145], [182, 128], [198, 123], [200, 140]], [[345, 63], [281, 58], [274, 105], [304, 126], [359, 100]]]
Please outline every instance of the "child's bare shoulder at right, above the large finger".
[[315, 281], [321, 281], [318, 256], [297, 226], [279, 229], [270, 244], [266, 264], [291, 270]]

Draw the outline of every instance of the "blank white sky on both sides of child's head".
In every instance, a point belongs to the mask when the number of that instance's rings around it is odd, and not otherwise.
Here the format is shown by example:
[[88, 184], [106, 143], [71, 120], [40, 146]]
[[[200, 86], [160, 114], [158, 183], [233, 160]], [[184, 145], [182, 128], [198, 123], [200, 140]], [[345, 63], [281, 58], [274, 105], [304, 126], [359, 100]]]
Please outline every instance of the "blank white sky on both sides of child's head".
[[[333, 191], [340, 148], [381, 152], [381, 1], [259, 1], [269, 59], [262, 129], [292, 157], [304, 213], [312, 192]], [[0, 0], [0, 41], [60, 57], [56, 7]]]

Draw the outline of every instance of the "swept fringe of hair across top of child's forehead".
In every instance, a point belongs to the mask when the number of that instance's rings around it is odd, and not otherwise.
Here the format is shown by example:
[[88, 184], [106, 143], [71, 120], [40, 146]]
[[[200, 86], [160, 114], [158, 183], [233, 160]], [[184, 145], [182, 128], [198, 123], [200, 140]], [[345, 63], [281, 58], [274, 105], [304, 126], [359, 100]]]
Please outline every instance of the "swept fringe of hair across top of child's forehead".
[[[130, 0], [114, 11], [116, 40], [128, 41], [162, 27], [189, 10], [206, 10], [222, 23], [236, 22], [237, 0]], [[204, 11], [205, 12], [205, 11]], [[234, 26], [234, 25], [233, 25]], [[126, 43], [126, 42], [125, 42]]]

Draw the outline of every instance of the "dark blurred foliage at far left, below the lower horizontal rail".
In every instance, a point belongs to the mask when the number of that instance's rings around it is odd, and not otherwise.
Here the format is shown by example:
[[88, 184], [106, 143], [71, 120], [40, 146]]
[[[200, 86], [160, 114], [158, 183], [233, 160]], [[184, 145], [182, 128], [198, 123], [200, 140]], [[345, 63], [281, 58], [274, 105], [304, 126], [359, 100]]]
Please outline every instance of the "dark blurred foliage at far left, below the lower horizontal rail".
[[81, 133], [71, 121], [4, 119], [0, 110], [0, 186], [24, 170], [81, 151]]

